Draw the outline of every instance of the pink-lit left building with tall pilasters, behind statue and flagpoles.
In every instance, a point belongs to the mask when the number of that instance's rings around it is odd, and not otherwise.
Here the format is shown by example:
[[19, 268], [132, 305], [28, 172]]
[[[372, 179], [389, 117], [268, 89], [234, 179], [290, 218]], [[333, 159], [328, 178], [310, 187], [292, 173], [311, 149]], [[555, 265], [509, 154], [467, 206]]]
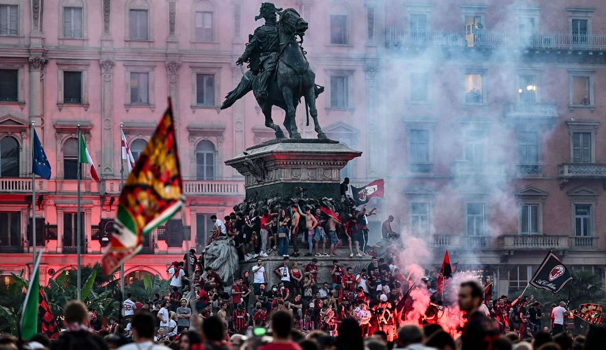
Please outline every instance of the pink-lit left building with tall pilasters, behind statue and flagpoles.
[[[44, 249], [41, 280], [74, 269], [77, 250], [76, 174], [78, 128], [101, 182], [84, 171], [82, 264], [99, 262], [108, 243], [121, 183], [120, 124], [138, 157], [173, 101], [184, 210], [145, 238], [142, 254], [125, 265], [127, 283], [151, 273], [189, 248], [201, 249], [210, 215], [223, 217], [244, 198], [242, 177], [224, 165], [245, 148], [274, 136], [253, 96], [219, 113], [238, 84], [236, 66], [261, 1], [244, 0], [0, 0], [0, 269], [27, 271], [32, 260], [32, 180], [29, 125], [50, 161], [51, 180], [36, 179], [36, 244]], [[310, 23], [304, 47], [316, 82], [327, 87], [318, 101], [322, 127], [351, 148], [366, 148], [367, 87], [376, 84], [377, 25], [366, 38], [364, 2], [282, 1]], [[374, 19], [373, 19], [374, 21]], [[282, 124], [284, 113], [275, 108]], [[299, 107], [298, 126], [305, 127]], [[378, 159], [376, 157], [375, 159]], [[373, 170], [368, 171], [367, 168]], [[377, 176], [367, 159], [343, 171], [352, 179]], [[151, 255], [153, 254], [153, 255]]]

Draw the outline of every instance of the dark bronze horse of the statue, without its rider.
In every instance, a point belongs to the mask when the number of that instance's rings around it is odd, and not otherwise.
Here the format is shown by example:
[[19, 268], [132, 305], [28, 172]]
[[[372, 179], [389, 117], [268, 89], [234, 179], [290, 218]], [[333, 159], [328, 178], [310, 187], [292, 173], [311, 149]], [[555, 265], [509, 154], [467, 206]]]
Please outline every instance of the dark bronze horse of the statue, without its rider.
[[[249, 70], [244, 74], [244, 79], [238, 87], [225, 96], [221, 109], [230, 107], [248, 91], [252, 90], [259, 107], [265, 115], [265, 126], [275, 131], [276, 138], [280, 139], [285, 136], [282, 129], [271, 118], [271, 107], [274, 105], [282, 108], [286, 113], [284, 127], [288, 131], [288, 136], [291, 139], [301, 139], [301, 133], [297, 130], [295, 121], [295, 110], [301, 101], [301, 97], [304, 97], [307, 125], [309, 125], [309, 114], [311, 114], [318, 138], [325, 139], [327, 138], [326, 134], [318, 124], [318, 109], [316, 108], [316, 97], [324, 91], [324, 88], [316, 87], [316, 74], [309, 67], [309, 62], [305, 58], [305, 51], [301, 46], [302, 37], [308, 28], [308, 24], [293, 8], [278, 12], [278, 15], [280, 47], [278, 67], [270, 78], [267, 98], [259, 101], [259, 76]], [[301, 42], [297, 41], [297, 36], [301, 38]]]

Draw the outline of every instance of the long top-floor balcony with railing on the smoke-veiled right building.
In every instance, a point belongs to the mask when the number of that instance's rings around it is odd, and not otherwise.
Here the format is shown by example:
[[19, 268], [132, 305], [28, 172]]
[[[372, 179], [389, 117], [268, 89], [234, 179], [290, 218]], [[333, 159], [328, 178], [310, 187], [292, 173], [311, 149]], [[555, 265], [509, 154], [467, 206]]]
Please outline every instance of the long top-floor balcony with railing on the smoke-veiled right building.
[[445, 47], [513, 48], [522, 50], [606, 50], [605, 34], [518, 33], [479, 31], [408, 31], [392, 27], [385, 32], [387, 47], [437, 45]]

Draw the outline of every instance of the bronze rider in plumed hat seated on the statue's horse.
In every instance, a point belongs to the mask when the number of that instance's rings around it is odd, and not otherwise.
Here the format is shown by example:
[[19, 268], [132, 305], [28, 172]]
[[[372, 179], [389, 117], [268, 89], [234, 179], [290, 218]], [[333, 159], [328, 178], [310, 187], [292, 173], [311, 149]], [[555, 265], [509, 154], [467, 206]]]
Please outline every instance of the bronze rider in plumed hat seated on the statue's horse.
[[236, 64], [250, 62], [250, 70], [255, 75], [262, 68], [258, 94], [258, 99], [261, 101], [267, 98], [267, 81], [271, 73], [276, 70], [276, 65], [278, 64], [280, 45], [276, 12], [281, 10], [282, 8], [276, 8], [271, 2], [263, 2], [261, 4], [259, 16], [255, 16], [255, 21], [264, 18], [265, 24], [256, 28], [255, 33], [249, 36], [244, 53], [236, 61]]

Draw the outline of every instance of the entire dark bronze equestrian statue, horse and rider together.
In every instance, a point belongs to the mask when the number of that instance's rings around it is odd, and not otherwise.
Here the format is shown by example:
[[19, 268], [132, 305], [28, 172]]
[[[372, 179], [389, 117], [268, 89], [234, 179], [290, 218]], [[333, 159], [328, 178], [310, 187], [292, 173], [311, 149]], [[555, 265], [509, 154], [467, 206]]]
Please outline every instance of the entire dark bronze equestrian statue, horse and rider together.
[[[279, 21], [276, 21], [276, 13]], [[265, 126], [275, 131], [276, 138], [285, 136], [271, 119], [273, 105], [286, 112], [284, 127], [288, 136], [291, 139], [301, 139], [295, 121], [295, 110], [301, 97], [304, 97], [307, 125], [311, 114], [318, 138], [325, 139], [326, 134], [318, 124], [316, 108], [316, 97], [324, 91], [324, 87], [315, 84], [316, 74], [309, 67], [301, 46], [308, 28], [307, 22], [295, 9], [282, 11], [282, 8], [276, 8], [271, 2], [261, 4], [259, 16], [255, 20], [260, 18], [265, 19], [265, 24], [249, 36], [244, 53], [236, 61], [238, 65], [248, 62], [250, 70], [242, 76], [238, 87], [225, 96], [221, 109], [230, 107], [252, 90], [265, 116]], [[301, 41], [297, 41], [297, 37]]]

